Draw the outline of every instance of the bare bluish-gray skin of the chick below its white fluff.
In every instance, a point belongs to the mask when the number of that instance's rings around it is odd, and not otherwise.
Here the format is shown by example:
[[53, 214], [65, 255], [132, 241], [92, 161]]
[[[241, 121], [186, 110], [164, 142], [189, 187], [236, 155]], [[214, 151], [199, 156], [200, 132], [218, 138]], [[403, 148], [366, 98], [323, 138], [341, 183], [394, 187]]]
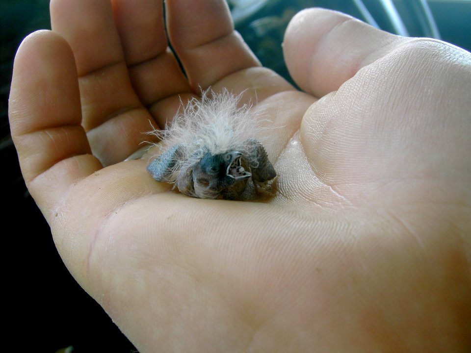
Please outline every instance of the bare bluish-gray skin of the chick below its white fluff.
[[[198, 162], [178, 171], [179, 191], [200, 199], [237, 200], [249, 178], [258, 190], [265, 190], [266, 182], [276, 176], [275, 169], [260, 142], [250, 139], [246, 144], [245, 154], [234, 150], [216, 155], [206, 152]], [[170, 147], [149, 163], [147, 171], [157, 181], [169, 182], [180, 153], [179, 145]]]

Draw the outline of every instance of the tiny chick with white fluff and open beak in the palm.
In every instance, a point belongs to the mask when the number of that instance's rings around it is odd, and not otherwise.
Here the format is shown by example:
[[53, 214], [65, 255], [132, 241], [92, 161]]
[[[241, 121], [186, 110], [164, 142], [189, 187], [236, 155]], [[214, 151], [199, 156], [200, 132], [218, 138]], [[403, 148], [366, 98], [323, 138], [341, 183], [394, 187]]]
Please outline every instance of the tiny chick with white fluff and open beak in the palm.
[[[168, 146], [147, 171], [157, 181], [175, 183], [178, 190], [201, 199], [240, 199], [247, 182], [270, 193], [276, 176], [262, 144], [253, 113], [237, 107], [238, 96], [224, 90], [203, 92], [177, 114], [165, 130], [154, 131]], [[252, 137], [251, 137], [252, 136]]]

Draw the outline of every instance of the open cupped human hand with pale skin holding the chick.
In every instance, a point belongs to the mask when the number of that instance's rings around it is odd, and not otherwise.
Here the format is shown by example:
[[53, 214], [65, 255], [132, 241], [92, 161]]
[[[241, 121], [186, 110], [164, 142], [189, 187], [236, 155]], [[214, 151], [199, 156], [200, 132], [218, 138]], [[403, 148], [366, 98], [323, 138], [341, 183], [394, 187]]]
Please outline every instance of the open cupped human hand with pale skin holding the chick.
[[[187, 78], [159, 1], [51, 16], [15, 59], [12, 136], [68, 269], [140, 352], [469, 352], [469, 52], [310, 9], [284, 40], [299, 92], [224, 1], [167, 1]], [[274, 198], [193, 199], [122, 162], [198, 86], [283, 126]]]

